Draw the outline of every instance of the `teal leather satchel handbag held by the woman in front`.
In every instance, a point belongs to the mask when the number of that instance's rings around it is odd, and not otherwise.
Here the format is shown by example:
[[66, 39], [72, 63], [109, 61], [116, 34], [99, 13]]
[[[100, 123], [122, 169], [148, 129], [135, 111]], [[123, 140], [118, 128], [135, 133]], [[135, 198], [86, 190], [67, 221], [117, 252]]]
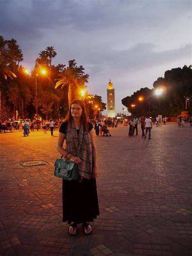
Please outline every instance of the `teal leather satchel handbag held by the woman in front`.
[[[81, 156], [81, 147], [78, 152], [78, 157]], [[62, 157], [62, 156], [61, 156]], [[55, 161], [55, 177], [67, 179], [67, 180], [77, 180], [78, 179], [78, 164], [74, 162], [64, 162], [63, 158], [58, 158]]]

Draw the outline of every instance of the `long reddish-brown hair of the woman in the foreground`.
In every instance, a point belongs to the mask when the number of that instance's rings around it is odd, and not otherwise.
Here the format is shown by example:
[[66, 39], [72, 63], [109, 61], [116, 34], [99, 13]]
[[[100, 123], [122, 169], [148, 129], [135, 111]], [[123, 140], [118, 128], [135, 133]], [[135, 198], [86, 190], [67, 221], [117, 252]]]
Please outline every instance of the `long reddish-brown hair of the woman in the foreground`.
[[81, 106], [81, 109], [82, 109], [81, 123], [83, 124], [83, 128], [84, 128], [85, 132], [88, 132], [87, 112], [86, 112], [85, 105], [82, 100], [73, 100], [71, 102], [69, 111], [68, 111], [64, 121], [68, 121], [70, 124], [72, 123], [73, 116], [71, 115], [71, 106], [73, 104], [79, 104]]

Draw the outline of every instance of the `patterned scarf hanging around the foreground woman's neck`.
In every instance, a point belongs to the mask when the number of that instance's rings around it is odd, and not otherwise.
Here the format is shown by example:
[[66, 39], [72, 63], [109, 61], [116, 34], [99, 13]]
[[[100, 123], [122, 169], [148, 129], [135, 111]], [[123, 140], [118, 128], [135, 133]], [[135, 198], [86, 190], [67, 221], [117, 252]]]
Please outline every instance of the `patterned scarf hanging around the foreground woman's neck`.
[[[81, 146], [82, 145], [82, 146]], [[80, 123], [79, 127], [79, 137], [77, 136], [77, 129], [75, 122], [72, 124], [68, 122], [67, 132], [66, 132], [66, 151], [77, 156], [79, 149], [81, 147], [81, 164], [78, 164], [78, 175], [79, 181], [83, 178], [90, 179], [92, 173], [92, 143], [91, 136], [89, 132], [83, 131], [83, 124]], [[64, 160], [69, 161], [64, 157]]]

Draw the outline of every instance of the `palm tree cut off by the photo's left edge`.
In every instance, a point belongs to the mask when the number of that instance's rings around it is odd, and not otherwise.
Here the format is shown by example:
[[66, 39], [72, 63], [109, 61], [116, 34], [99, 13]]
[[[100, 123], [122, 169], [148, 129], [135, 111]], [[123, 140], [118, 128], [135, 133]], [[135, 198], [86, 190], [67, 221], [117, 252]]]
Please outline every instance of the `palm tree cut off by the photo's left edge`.
[[[7, 79], [7, 77], [10, 77], [13, 79], [13, 77], [17, 77], [7, 66], [8, 63], [4, 61], [4, 58], [0, 56], [0, 78], [4, 77], [4, 79]], [[1, 119], [1, 79], [0, 79], [0, 119]]]

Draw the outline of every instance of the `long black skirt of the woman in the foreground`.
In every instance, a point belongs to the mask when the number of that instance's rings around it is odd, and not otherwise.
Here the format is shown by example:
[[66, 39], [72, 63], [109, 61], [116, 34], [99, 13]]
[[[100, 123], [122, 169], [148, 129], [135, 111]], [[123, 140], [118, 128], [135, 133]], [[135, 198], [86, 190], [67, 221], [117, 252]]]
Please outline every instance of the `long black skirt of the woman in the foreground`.
[[63, 222], [92, 222], [99, 215], [96, 179], [63, 179]]

